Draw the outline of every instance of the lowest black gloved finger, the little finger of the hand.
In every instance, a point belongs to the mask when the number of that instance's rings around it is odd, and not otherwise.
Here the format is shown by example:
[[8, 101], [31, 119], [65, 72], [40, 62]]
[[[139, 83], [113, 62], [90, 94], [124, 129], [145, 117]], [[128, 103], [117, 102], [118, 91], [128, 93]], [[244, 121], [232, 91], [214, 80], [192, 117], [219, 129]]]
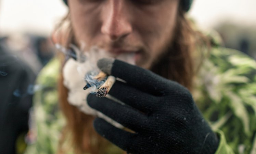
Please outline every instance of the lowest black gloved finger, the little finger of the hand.
[[101, 118], [96, 118], [93, 121], [93, 127], [102, 137], [127, 151], [127, 153], [130, 151], [130, 148], [133, 147], [132, 143], [136, 140], [137, 134], [116, 128]]

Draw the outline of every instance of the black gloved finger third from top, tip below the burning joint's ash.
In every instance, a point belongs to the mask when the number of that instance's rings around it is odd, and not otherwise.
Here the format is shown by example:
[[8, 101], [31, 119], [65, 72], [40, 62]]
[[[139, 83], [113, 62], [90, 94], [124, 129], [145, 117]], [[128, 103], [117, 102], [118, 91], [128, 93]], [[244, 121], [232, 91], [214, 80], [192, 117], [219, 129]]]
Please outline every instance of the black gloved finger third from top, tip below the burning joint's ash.
[[93, 94], [88, 95], [87, 103], [90, 107], [135, 132], [141, 128], [146, 129], [148, 117], [132, 107], [121, 105], [105, 97], [99, 98]]

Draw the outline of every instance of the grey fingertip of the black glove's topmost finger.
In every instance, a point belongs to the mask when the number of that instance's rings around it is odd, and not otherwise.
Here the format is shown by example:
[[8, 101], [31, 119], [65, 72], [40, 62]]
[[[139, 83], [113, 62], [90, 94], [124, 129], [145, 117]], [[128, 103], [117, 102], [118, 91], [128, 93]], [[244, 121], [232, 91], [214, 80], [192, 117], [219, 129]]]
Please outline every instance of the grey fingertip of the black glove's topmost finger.
[[105, 72], [108, 75], [111, 75], [111, 69], [113, 67], [114, 61], [114, 58], [102, 58], [98, 60], [97, 66], [101, 71]]

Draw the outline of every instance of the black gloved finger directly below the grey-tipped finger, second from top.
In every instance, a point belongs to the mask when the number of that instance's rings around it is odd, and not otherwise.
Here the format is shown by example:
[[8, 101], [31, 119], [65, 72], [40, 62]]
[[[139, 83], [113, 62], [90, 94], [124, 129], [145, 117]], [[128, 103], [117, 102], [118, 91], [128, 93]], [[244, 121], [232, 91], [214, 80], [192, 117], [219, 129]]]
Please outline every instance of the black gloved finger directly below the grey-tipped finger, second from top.
[[158, 108], [157, 97], [116, 81], [109, 94], [121, 102], [142, 112], [150, 112]]

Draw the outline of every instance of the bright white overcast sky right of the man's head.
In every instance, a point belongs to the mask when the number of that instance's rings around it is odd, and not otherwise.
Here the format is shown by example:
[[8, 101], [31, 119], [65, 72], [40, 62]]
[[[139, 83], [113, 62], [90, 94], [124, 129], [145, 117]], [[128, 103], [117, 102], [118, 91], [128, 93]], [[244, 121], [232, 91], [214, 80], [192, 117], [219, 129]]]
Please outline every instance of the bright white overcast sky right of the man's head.
[[256, 25], [255, 0], [194, 0], [189, 12], [200, 28], [212, 28], [221, 22]]

